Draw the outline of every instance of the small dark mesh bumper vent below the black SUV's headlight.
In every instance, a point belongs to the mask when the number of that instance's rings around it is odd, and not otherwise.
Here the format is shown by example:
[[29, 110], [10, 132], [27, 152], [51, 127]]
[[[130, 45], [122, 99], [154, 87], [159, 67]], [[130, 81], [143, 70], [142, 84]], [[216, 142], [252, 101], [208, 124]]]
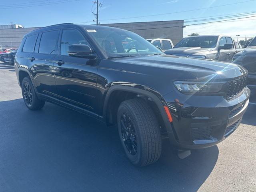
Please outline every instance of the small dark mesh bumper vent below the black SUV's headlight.
[[212, 133], [212, 126], [210, 126], [210, 127], [192, 127], [191, 128], [192, 141], [207, 139], [210, 137], [211, 133]]

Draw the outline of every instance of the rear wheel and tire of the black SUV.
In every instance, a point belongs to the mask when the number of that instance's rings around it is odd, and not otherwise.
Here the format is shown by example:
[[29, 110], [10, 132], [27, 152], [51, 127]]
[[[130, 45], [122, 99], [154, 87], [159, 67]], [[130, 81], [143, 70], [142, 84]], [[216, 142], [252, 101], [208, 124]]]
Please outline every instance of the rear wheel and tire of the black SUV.
[[39, 110], [44, 106], [45, 101], [38, 99], [34, 86], [29, 77], [25, 77], [22, 80], [21, 90], [22, 97], [27, 108], [30, 110]]

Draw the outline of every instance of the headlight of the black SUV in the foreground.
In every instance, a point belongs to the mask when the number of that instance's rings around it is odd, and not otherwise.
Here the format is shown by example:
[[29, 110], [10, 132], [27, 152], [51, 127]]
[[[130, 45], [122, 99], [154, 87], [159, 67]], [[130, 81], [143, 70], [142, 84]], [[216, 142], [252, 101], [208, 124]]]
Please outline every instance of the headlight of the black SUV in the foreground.
[[226, 82], [187, 82], [174, 81], [174, 86], [182, 93], [207, 94], [219, 93]]

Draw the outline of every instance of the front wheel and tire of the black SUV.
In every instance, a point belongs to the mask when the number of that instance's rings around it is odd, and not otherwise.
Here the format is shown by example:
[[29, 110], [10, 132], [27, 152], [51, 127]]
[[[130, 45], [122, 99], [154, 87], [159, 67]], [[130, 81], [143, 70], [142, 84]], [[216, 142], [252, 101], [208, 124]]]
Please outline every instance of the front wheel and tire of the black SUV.
[[141, 99], [122, 102], [118, 108], [118, 132], [128, 159], [135, 166], [156, 162], [161, 154], [162, 140], [156, 117]]

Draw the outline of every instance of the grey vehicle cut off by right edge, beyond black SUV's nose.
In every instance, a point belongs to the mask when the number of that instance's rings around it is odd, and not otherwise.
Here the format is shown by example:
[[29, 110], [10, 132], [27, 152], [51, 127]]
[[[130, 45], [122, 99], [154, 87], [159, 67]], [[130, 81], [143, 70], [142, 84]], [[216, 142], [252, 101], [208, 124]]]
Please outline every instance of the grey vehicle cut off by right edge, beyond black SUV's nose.
[[256, 37], [241, 52], [233, 57], [233, 63], [246, 68], [248, 73], [248, 84], [256, 85]]

